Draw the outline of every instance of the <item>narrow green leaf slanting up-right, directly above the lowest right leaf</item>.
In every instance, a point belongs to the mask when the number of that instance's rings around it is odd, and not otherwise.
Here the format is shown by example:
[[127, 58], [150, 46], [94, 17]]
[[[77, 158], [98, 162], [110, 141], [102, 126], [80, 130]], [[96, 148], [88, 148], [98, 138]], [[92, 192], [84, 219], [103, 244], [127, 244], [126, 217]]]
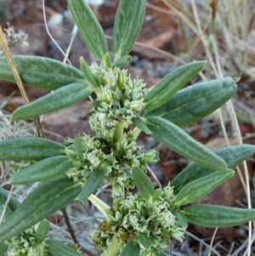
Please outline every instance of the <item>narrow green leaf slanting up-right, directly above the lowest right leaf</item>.
[[235, 174], [234, 171], [215, 171], [212, 174], [195, 179], [178, 192], [176, 196], [176, 204], [182, 206], [190, 202], [195, 202], [203, 196], [207, 196], [210, 192], [223, 184], [225, 180], [231, 178]]

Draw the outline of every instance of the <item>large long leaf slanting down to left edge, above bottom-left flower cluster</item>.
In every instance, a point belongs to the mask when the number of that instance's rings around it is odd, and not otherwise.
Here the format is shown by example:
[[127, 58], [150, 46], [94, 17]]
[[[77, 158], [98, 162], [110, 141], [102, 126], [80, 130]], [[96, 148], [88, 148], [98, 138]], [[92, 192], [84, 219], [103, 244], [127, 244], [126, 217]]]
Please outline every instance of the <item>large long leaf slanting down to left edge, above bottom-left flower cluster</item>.
[[65, 207], [67, 203], [77, 197], [81, 189], [80, 185], [74, 184], [67, 176], [42, 183], [0, 225], [2, 231], [0, 243], [13, 236], [18, 236], [31, 225], [37, 224], [60, 208]]

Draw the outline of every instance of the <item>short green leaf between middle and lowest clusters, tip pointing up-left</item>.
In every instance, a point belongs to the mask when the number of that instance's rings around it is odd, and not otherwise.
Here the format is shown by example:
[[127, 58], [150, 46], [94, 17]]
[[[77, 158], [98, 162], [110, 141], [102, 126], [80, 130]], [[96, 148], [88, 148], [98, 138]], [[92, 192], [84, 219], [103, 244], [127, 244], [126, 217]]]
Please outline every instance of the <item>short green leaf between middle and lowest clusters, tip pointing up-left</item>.
[[149, 199], [153, 195], [154, 185], [150, 178], [144, 171], [139, 167], [133, 168], [133, 179], [135, 185], [139, 189], [139, 192], [145, 199]]

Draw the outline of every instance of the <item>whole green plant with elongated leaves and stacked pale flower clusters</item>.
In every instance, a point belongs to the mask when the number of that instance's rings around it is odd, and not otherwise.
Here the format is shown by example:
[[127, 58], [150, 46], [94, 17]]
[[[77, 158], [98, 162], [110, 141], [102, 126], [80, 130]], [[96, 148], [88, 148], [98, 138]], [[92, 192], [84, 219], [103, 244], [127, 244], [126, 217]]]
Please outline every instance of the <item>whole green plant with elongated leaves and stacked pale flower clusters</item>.
[[[0, 161], [10, 162], [14, 170], [11, 185], [41, 182], [21, 203], [1, 189], [1, 253], [10, 246], [8, 255], [82, 255], [46, 238], [48, 221], [44, 219], [75, 199], [88, 199], [104, 215], [92, 233], [95, 247], [105, 249], [102, 256], [167, 255], [161, 249], [171, 237], [183, 241], [188, 222], [218, 227], [255, 219], [254, 209], [187, 206], [230, 179], [232, 169], [252, 156], [255, 146], [235, 145], [212, 152], [182, 129], [218, 109], [236, 91], [230, 77], [181, 89], [203, 69], [204, 61], [179, 67], [150, 89], [121, 69], [132, 59], [128, 54], [142, 26], [145, 3], [120, 1], [113, 30], [114, 60], [88, 4], [75, 0], [68, 0], [71, 14], [99, 65], [88, 66], [81, 57], [79, 71], [57, 60], [14, 56], [22, 82], [52, 92], [20, 106], [12, 121], [36, 118], [94, 93], [89, 117], [94, 134], [77, 134], [65, 145], [37, 137], [0, 142]], [[0, 60], [1, 79], [14, 82], [8, 59]], [[141, 151], [136, 139], [142, 131], [194, 162], [164, 188], [155, 189], [146, 174], [158, 154]], [[24, 163], [29, 164], [23, 167]], [[93, 194], [104, 179], [111, 184], [111, 207]], [[139, 190], [136, 194], [130, 192], [134, 187]]]

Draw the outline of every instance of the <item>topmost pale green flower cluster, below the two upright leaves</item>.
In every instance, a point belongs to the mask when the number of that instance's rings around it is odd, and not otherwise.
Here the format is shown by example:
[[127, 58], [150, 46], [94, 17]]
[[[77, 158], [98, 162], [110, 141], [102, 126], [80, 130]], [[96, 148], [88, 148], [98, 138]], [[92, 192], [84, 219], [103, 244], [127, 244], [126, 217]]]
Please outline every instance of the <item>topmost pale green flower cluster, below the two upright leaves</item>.
[[91, 70], [101, 89], [92, 102], [89, 123], [99, 138], [111, 141], [119, 124], [127, 128], [132, 118], [143, 110], [145, 84], [143, 80], [127, 76], [127, 70], [117, 67], [105, 68], [94, 63]]

